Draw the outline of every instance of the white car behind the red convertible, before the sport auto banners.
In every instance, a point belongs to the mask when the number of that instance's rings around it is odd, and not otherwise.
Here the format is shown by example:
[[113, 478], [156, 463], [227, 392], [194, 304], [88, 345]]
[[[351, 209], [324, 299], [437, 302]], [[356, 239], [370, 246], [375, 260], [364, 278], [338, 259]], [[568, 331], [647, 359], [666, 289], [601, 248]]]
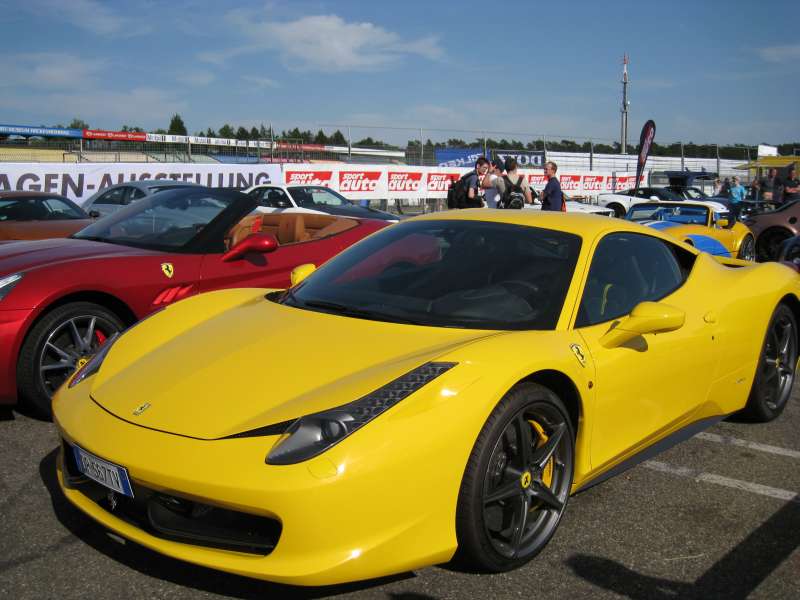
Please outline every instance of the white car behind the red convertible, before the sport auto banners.
[[256, 185], [244, 193], [258, 200], [258, 210], [265, 213], [296, 212], [378, 219], [397, 223], [397, 215], [359, 206], [338, 192], [321, 185]]

